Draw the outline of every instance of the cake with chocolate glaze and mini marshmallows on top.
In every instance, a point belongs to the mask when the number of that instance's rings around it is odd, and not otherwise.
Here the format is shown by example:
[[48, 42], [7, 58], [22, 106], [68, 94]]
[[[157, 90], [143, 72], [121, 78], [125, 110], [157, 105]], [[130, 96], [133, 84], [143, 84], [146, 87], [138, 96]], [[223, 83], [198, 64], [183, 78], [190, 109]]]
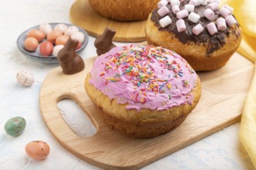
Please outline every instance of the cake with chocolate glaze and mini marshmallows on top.
[[242, 39], [233, 10], [219, 0], [162, 0], [148, 17], [147, 42], [174, 50], [196, 71], [219, 69]]

